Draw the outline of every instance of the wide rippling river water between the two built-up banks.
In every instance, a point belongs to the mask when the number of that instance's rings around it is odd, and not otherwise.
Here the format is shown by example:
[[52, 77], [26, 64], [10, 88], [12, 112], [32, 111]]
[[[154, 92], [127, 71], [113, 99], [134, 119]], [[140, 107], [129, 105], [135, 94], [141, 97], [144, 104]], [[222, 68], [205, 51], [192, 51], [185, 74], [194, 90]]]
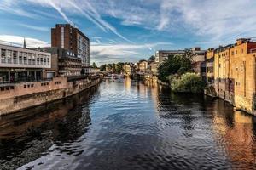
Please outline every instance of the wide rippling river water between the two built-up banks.
[[256, 118], [221, 99], [106, 80], [0, 117], [0, 169], [256, 169]]

